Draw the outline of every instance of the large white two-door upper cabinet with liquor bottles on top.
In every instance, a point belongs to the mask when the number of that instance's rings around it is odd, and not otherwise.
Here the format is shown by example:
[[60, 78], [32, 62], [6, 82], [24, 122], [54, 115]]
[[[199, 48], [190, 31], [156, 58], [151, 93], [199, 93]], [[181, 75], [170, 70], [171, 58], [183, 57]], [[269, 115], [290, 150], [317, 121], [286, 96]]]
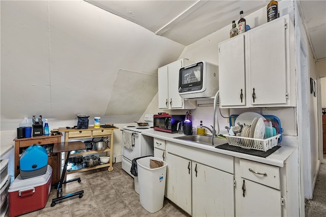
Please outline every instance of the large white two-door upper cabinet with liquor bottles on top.
[[221, 42], [220, 107], [295, 106], [292, 53], [294, 27], [289, 15]]

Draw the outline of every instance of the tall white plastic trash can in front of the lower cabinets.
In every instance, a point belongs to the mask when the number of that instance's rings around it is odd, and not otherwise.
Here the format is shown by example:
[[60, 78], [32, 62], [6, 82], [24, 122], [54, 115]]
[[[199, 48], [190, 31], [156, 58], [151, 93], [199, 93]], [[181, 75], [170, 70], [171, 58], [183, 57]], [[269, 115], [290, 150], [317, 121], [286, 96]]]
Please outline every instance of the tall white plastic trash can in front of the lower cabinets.
[[[163, 166], [151, 169], [150, 159], [163, 162]], [[139, 198], [144, 209], [150, 213], [163, 207], [167, 165], [165, 161], [154, 157], [137, 160]]]

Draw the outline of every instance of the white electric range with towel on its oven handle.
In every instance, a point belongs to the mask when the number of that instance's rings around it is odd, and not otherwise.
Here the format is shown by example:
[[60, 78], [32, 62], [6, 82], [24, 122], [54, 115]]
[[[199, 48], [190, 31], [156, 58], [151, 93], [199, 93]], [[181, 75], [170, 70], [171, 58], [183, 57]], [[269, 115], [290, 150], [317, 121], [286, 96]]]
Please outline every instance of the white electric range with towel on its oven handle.
[[[153, 114], [145, 114], [144, 120], [148, 122], [148, 127], [125, 126], [122, 127], [122, 169], [133, 177], [130, 173], [131, 161], [143, 156], [153, 156], [153, 138], [142, 135], [142, 132], [153, 129]], [[129, 141], [131, 139], [131, 141]], [[127, 140], [127, 141], [126, 141]], [[129, 143], [129, 145], [125, 144]], [[131, 146], [130, 146], [131, 144]]]

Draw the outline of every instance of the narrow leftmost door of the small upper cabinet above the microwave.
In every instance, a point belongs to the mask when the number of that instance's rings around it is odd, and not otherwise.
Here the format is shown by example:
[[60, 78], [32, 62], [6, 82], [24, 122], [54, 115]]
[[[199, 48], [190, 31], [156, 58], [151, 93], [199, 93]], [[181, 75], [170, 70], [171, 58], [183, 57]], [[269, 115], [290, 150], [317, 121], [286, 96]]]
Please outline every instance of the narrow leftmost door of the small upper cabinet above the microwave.
[[158, 108], [169, 108], [169, 85], [168, 85], [168, 66], [160, 67], [157, 71], [158, 76]]

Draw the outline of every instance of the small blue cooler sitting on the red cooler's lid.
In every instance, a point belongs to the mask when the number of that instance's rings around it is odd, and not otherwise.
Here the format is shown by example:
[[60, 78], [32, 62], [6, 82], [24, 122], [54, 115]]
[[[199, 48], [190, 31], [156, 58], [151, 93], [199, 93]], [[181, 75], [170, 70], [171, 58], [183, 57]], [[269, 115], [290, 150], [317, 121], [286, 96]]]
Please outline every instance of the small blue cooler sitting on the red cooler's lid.
[[47, 152], [44, 147], [33, 144], [28, 147], [19, 160], [20, 177], [22, 179], [43, 175], [47, 170]]

